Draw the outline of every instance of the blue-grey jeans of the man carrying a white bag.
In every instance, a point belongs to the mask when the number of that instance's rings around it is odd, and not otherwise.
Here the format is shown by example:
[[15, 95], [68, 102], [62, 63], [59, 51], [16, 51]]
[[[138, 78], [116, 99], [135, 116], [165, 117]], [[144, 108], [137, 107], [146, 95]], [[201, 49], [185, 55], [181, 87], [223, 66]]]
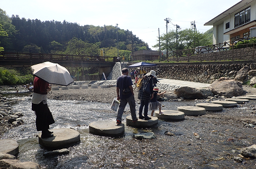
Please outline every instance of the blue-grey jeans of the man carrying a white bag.
[[136, 120], [137, 117], [134, 95], [130, 96], [130, 98], [120, 100], [120, 104], [117, 110], [117, 120], [122, 121], [122, 114], [124, 112], [124, 108], [126, 108], [127, 103], [129, 103], [130, 106], [130, 114], [132, 115], [132, 120]]

